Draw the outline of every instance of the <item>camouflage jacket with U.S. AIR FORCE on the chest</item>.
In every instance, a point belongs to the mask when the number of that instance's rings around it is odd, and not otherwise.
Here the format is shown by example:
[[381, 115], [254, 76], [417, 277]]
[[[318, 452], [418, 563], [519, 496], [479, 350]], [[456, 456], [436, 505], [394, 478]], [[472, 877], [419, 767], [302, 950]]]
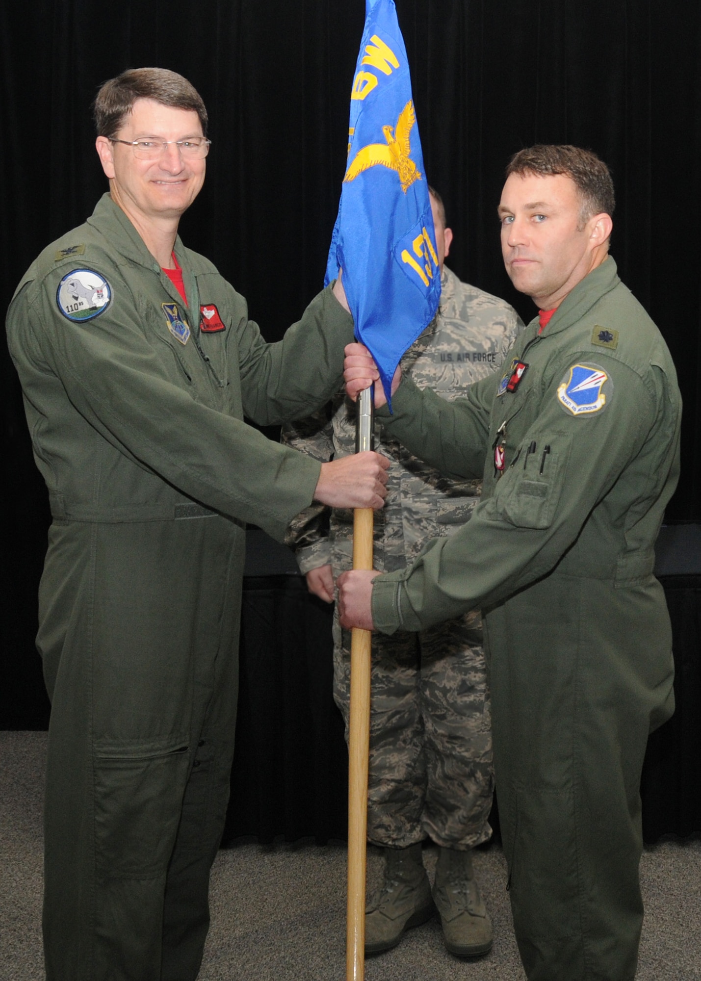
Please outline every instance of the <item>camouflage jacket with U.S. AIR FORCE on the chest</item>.
[[[473, 382], [496, 371], [522, 328], [513, 308], [497, 296], [461, 283], [444, 267], [441, 306], [402, 358], [402, 371], [419, 388], [442, 398], [463, 396]], [[322, 462], [355, 448], [355, 404], [340, 392], [320, 412], [283, 427], [284, 442]], [[431, 539], [450, 536], [469, 518], [481, 481], [442, 476], [396, 439], [375, 428], [375, 449], [391, 461], [384, 508], [375, 512], [374, 566], [404, 569]], [[352, 511], [312, 505], [293, 519], [286, 541], [302, 573], [331, 564], [350, 568]]]

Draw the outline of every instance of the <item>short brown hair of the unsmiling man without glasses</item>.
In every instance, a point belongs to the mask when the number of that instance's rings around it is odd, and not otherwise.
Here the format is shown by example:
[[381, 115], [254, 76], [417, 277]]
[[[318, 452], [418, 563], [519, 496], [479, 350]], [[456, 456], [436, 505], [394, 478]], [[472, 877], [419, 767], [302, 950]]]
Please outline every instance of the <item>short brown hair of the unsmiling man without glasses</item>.
[[507, 177], [512, 174], [539, 174], [543, 177], [565, 174], [571, 178], [581, 199], [579, 217], [582, 224], [592, 215], [602, 212], [614, 214], [614, 181], [604, 161], [591, 150], [582, 150], [568, 143], [539, 143], [513, 154], [507, 167]]

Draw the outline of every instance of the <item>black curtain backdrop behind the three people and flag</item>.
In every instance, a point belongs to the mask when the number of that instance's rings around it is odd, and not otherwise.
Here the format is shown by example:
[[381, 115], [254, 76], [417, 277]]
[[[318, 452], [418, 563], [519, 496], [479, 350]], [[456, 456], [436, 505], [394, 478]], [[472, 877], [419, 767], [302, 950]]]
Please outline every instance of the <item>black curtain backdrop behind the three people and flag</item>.
[[[669, 511], [701, 519], [701, 12], [688, 0], [398, 0], [426, 173], [465, 280], [534, 308], [504, 272], [496, 205], [534, 142], [597, 151], [616, 182], [613, 254], [674, 356], [682, 475]], [[362, 0], [6, 0], [0, 9], [0, 288], [92, 211], [106, 181], [89, 104], [155, 65], [189, 77], [211, 117], [207, 181], [182, 233], [243, 292], [268, 339], [319, 288], [345, 167]], [[2, 350], [5, 585], [0, 726], [45, 722], [33, 636], [49, 515], [19, 385]], [[30, 697], [27, 696], [30, 693]]]

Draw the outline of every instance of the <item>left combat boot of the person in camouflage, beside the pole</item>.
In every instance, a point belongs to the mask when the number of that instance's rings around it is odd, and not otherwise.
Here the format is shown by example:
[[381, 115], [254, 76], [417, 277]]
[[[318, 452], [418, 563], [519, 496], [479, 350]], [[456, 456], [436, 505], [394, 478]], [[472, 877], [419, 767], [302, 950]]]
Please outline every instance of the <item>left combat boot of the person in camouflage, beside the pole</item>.
[[365, 909], [365, 954], [397, 947], [404, 930], [425, 923], [434, 912], [420, 844], [385, 849], [384, 882]]

